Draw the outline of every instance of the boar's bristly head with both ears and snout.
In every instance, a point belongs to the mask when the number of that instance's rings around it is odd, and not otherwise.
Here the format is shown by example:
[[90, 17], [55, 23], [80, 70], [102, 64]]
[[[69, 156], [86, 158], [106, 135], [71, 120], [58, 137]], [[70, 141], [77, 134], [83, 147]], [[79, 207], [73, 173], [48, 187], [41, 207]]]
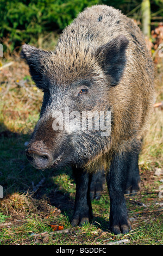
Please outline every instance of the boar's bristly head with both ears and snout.
[[127, 45], [120, 35], [99, 47], [59, 42], [55, 51], [48, 52], [22, 46], [21, 57], [44, 92], [40, 119], [26, 149], [35, 168], [65, 163], [81, 167], [108, 151], [110, 132], [105, 134], [106, 126], [103, 129], [99, 123], [111, 121], [106, 114], [112, 109], [109, 92], [121, 80]]

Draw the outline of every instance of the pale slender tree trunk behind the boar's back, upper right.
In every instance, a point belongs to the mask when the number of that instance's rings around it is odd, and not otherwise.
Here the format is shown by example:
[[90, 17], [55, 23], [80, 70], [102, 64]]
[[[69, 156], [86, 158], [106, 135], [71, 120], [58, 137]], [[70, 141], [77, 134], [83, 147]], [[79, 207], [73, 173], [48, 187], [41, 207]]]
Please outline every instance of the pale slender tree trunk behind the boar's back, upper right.
[[151, 35], [151, 4], [150, 0], [142, 0], [142, 32], [145, 36]]

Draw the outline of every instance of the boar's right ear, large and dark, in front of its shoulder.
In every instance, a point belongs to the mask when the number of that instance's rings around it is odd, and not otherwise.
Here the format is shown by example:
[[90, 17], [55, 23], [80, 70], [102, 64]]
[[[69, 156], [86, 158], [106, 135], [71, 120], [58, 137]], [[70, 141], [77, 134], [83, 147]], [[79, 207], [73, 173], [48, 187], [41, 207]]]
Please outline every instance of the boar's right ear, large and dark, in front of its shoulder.
[[126, 36], [120, 35], [96, 50], [99, 65], [109, 76], [112, 86], [118, 84], [123, 74], [128, 43]]

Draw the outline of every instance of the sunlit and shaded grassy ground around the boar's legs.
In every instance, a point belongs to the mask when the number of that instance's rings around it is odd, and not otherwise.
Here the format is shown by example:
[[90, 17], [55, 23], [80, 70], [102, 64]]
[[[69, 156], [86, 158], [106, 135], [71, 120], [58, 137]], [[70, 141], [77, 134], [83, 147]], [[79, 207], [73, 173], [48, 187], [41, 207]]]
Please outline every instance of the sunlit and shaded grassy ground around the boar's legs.
[[[8, 59], [8, 61], [13, 58]], [[6, 60], [4, 60], [5, 62]], [[163, 70], [163, 64], [161, 64]], [[156, 102], [163, 100], [162, 70], [156, 72]], [[109, 195], [92, 200], [90, 224], [73, 228], [75, 182], [71, 169], [34, 169], [24, 155], [39, 110], [42, 93], [30, 79], [27, 65], [15, 57], [14, 65], [0, 73], [0, 245], [105, 245], [128, 239], [129, 245], [161, 245], [162, 199], [159, 187], [163, 168], [163, 118], [161, 108], [154, 108], [151, 126], [140, 156], [141, 191], [126, 197], [132, 230], [117, 235], [108, 230]], [[54, 231], [62, 225], [62, 231]]]

